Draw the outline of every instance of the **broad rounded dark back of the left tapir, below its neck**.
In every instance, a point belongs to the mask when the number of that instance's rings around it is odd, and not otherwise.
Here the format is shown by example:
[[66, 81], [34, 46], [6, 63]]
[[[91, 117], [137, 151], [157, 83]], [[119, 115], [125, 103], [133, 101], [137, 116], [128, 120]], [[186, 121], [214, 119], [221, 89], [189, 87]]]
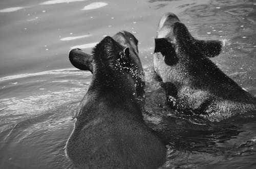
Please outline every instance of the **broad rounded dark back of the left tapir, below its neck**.
[[165, 146], [130, 111], [92, 101], [82, 111], [67, 143], [77, 167], [157, 168], [165, 161]]

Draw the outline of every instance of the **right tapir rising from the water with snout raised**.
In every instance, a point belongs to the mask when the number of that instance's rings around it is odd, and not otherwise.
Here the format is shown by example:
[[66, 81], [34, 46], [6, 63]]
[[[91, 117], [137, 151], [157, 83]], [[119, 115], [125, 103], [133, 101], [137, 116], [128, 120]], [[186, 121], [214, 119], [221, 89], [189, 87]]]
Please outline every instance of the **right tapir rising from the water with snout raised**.
[[173, 13], [159, 21], [154, 69], [166, 101], [180, 113], [221, 121], [256, 110], [256, 99], [225, 75], [209, 57], [222, 50], [218, 40], [197, 40]]

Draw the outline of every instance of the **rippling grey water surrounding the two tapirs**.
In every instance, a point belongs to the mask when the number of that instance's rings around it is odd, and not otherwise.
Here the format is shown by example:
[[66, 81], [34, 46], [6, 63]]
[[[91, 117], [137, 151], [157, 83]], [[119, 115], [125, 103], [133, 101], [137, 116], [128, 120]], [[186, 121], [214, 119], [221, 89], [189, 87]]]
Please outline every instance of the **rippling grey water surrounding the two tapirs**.
[[256, 96], [255, 8], [249, 0], [0, 2], [0, 168], [73, 168], [63, 148], [92, 75], [73, 68], [68, 52], [90, 52], [120, 30], [139, 40], [144, 119], [168, 143], [162, 168], [255, 168], [253, 116], [210, 124], [182, 117], [164, 105], [151, 78], [157, 23], [173, 12], [194, 37], [231, 42], [212, 61]]

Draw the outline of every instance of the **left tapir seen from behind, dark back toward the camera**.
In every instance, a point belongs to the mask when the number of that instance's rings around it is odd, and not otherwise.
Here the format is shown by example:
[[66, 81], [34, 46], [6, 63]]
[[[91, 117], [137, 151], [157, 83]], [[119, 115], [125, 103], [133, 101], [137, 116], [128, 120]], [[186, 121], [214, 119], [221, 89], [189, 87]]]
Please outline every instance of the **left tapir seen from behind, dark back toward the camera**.
[[137, 42], [123, 32], [105, 37], [92, 55], [70, 52], [74, 66], [93, 72], [66, 146], [79, 168], [158, 168], [166, 160], [165, 145], [142, 118], [137, 97], [143, 88], [135, 84], [143, 72], [133, 52], [138, 53]]

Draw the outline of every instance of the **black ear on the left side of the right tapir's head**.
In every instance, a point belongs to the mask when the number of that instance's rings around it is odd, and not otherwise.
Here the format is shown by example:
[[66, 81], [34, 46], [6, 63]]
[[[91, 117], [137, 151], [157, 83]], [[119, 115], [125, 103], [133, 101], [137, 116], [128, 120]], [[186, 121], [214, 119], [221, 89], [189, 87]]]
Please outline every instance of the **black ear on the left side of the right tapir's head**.
[[168, 66], [173, 66], [178, 62], [174, 44], [168, 42], [166, 38], [155, 39], [154, 53], [161, 52], [164, 57], [164, 62]]

